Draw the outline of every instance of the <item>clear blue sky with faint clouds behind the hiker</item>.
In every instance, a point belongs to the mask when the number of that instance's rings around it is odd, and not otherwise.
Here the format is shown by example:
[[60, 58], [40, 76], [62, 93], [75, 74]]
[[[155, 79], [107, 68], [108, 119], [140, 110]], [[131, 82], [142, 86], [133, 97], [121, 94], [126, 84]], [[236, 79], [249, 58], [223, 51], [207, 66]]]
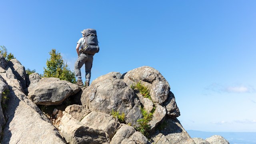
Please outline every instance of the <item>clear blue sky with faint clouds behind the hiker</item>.
[[255, 0], [0, 0], [0, 20], [0, 45], [25, 68], [42, 74], [55, 48], [73, 70], [80, 31], [94, 28], [92, 80], [151, 66], [186, 130], [256, 132]]

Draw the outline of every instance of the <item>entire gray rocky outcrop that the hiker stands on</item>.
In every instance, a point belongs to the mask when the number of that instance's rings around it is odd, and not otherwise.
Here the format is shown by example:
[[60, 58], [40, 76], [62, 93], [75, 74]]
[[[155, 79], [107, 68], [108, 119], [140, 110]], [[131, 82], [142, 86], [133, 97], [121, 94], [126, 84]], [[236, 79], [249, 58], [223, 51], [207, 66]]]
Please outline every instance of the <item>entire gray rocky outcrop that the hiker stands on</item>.
[[[16, 59], [1, 58], [0, 67], [1, 144], [228, 144], [221, 136], [192, 139], [177, 119], [180, 110], [170, 85], [149, 66], [110, 72], [86, 88], [37, 73], [28, 76]], [[133, 89], [136, 83], [151, 97]], [[58, 110], [46, 114], [50, 107]], [[142, 108], [152, 113], [147, 137], [138, 131]], [[124, 113], [125, 122], [112, 112]]]

